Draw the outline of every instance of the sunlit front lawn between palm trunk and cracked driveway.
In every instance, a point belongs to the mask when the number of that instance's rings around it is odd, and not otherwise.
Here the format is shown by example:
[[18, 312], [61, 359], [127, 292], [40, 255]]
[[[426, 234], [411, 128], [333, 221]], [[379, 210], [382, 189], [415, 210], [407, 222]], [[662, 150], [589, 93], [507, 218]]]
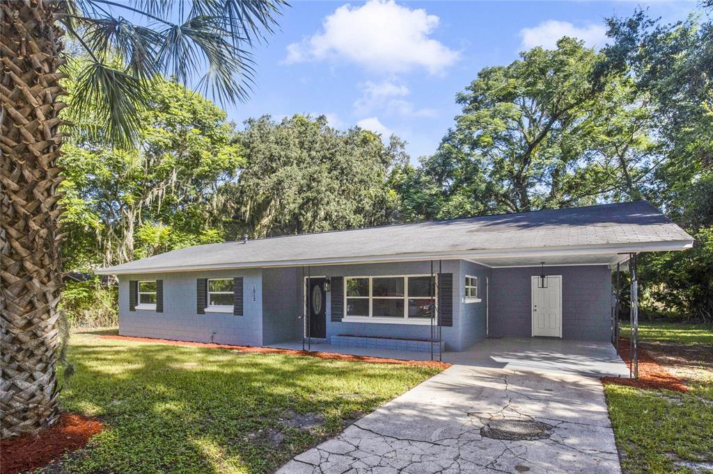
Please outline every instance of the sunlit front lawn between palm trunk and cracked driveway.
[[62, 408], [106, 423], [69, 473], [270, 472], [439, 372], [87, 334], [68, 359]]

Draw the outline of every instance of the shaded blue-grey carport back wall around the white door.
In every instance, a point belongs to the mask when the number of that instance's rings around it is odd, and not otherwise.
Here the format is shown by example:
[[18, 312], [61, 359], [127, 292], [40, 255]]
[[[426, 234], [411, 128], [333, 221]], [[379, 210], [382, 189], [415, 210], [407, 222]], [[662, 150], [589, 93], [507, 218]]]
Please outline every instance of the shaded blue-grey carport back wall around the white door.
[[[490, 285], [490, 334], [494, 337], [531, 337], [531, 280], [540, 267], [493, 268]], [[606, 265], [545, 267], [548, 275], [562, 275], [562, 337], [610, 340], [611, 271]]]

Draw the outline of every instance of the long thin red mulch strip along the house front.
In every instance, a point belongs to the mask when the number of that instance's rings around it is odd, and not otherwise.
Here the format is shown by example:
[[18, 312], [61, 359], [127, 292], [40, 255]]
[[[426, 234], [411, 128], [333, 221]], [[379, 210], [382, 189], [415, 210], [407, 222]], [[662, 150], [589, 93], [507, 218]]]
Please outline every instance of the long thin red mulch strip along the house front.
[[154, 339], [153, 337], [130, 337], [118, 335], [101, 335], [101, 339], [118, 339], [121, 341], [153, 342], [154, 344], [172, 344], [175, 346], [207, 347], [209, 349], [230, 349], [240, 352], [257, 352], [260, 354], [290, 354], [299, 356], [319, 357], [320, 359], [349, 360], [357, 362], [369, 362], [371, 364], [400, 364], [419, 367], [436, 367], [438, 369], [448, 369], [451, 364], [438, 362], [436, 360], [400, 360], [387, 359], [385, 357], [357, 356], [351, 354], [335, 354], [333, 352], [318, 351], [297, 351], [293, 349], [277, 349], [275, 347], [252, 347], [234, 346], [231, 344], [213, 344], [207, 342], [174, 341], [171, 339]]

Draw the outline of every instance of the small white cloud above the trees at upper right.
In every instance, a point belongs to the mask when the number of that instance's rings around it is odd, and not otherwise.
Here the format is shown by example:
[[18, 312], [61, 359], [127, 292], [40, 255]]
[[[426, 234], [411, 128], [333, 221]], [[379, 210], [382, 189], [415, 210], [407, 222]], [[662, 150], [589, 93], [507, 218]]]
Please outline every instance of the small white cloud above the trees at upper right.
[[603, 25], [588, 25], [578, 28], [568, 21], [548, 20], [538, 26], [520, 30], [520, 38], [524, 49], [542, 46], [546, 49], [557, 48], [557, 41], [563, 36], [583, 40], [590, 48], [604, 46], [607, 39], [607, 28]]

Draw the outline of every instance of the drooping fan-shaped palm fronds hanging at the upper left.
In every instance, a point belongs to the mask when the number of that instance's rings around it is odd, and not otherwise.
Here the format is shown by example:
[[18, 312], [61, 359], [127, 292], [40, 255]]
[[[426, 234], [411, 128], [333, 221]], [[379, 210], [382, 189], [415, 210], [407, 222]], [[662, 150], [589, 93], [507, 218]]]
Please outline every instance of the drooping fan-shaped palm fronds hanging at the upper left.
[[[83, 135], [133, 149], [142, 139], [150, 89], [161, 74], [220, 102], [245, 100], [254, 72], [249, 48], [272, 33], [284, 0], [68, 1], [57, 21], [85, 57], [66, 68], [76, 81], [70, 111], [93, 121]], [[135, 20], [136, 23], [133, 23]]]

